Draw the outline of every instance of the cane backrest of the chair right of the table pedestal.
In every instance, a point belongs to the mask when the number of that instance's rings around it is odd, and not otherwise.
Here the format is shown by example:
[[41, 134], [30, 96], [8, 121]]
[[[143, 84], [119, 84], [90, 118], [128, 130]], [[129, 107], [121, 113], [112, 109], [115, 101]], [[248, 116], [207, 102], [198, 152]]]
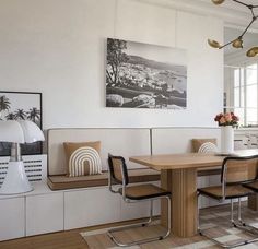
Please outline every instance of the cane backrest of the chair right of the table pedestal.
[[225, 157], [222, 164], [221, 182], [226, 185], [255, 180], [257, 165], [258, 155]]

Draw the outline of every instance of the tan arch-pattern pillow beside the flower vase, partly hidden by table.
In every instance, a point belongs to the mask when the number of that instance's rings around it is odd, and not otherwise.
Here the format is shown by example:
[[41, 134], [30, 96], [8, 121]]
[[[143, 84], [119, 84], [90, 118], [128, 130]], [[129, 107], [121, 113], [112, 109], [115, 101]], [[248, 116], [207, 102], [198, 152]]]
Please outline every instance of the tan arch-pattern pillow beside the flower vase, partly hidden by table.
[[216, 139], [192, 139], [192, 147], [198, 153], [218, 152]]

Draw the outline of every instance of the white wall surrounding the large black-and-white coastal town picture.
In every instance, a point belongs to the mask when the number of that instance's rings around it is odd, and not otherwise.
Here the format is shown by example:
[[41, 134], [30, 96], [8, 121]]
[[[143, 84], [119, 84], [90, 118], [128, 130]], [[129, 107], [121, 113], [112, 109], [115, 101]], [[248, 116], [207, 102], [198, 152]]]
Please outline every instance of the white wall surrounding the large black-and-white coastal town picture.
[[[105, 108], [107, 37], [187, 49], [187, 110]], [[222, 21], [137, 0], [0, 0], [0, 90], [42, 92], [44, 129], [216, 126], [223, 54], [208, 37]]]

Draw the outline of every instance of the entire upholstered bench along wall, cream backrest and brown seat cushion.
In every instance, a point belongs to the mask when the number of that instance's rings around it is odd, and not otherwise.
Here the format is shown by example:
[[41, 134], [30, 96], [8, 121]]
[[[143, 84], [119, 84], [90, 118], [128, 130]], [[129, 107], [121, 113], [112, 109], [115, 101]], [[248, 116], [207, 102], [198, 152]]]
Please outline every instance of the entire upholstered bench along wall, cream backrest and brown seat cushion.
[[[51, 129], [48, 131], [48, 186], [51, 190], [107, 186], [107, 154], [132, 155], [191, 152], [192, 138], [215, 138], [218, 128], [156, 128], [156, 129]], [[63, 142], [101, 141], [104, 173], [95, 176], [67, 177]], [[176, 141], [176, 142], [174, 142]], [[130, 182], [160, 180], [160, 173], [127, 162]], [[140, 168], [139, 168], [140, 167]], [[137, 169], [138, 168], [138, 169]], [[198, 176], [219, 175], [220, 167], [202, 168]]]

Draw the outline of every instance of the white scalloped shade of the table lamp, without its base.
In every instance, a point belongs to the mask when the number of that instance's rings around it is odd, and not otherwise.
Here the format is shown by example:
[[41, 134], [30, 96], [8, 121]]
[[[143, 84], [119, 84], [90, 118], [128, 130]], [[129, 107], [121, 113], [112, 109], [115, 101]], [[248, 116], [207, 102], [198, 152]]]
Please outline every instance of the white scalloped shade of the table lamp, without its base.
[[42, 130], [30, 120], [0, 121], [1, 142], [33, 143], [44, 140]]

